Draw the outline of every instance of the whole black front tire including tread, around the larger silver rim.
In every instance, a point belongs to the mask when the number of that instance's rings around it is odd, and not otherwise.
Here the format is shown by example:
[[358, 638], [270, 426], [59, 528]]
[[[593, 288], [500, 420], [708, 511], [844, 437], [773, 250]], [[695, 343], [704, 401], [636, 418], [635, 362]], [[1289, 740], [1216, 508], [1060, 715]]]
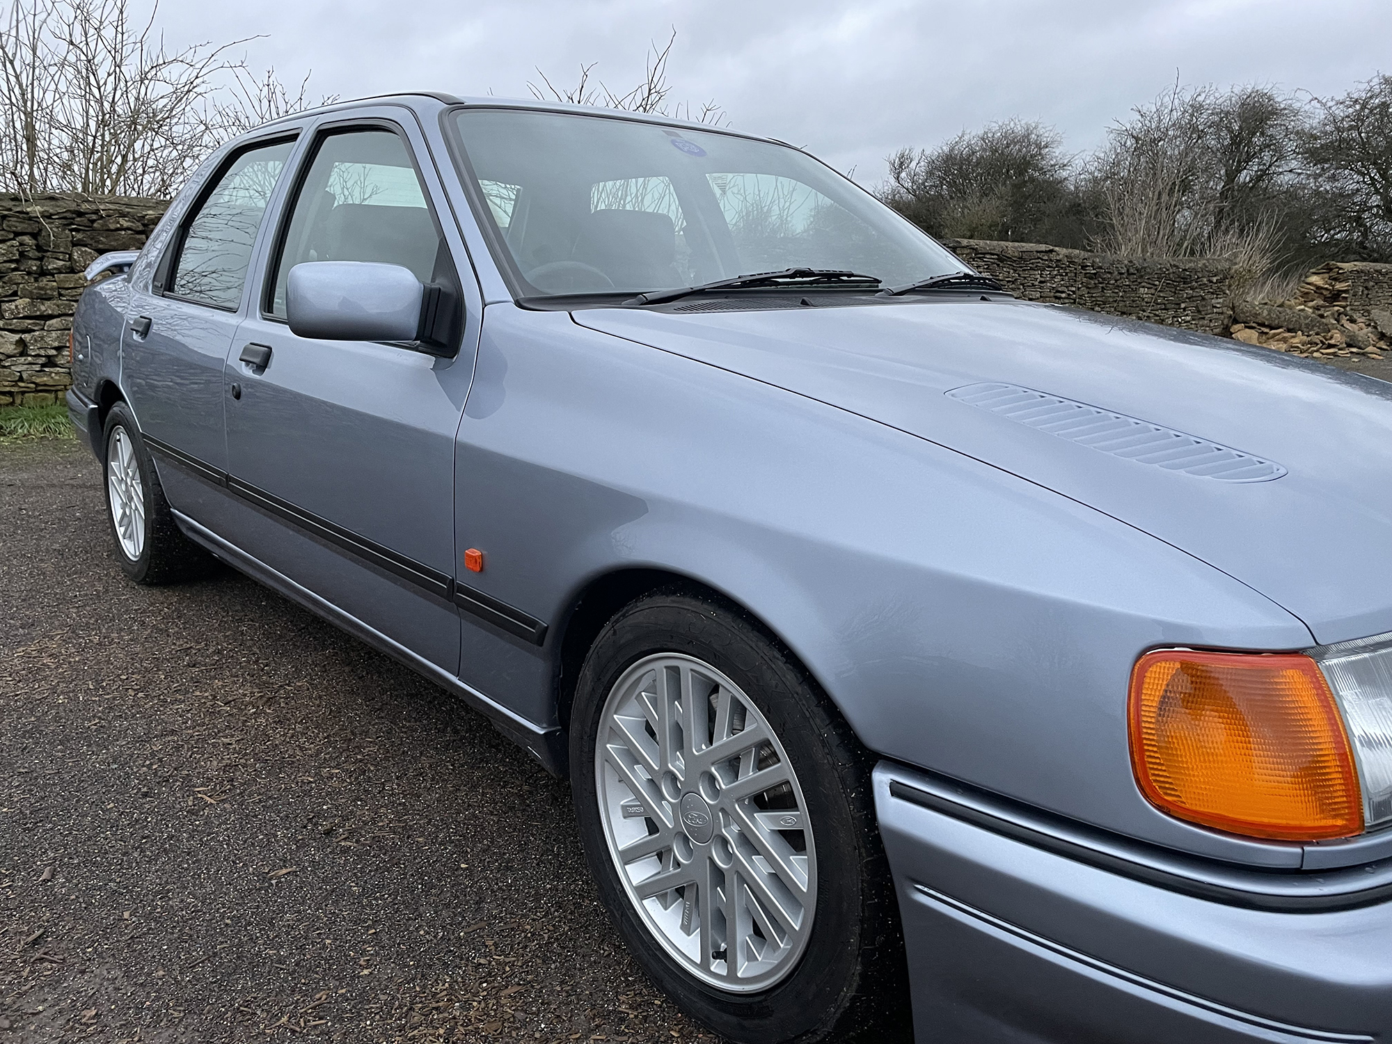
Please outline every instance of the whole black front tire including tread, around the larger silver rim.
[[[654, 653], [696, 657], [741, 686], [774, 728], [803, 788], [817, 864], [827, 869], [818, 870], [806, 949], [793, 970], [763, 992], [718, 990], [674, 960], [635, 910], [610, 855], [594, 778], [600, 718], [625, 670]], [[683, 1011], [741, 1044], [909, 1040], [903, 940], [876, 827], [873, 759], [757, 621], [679, 590], [631, 604], [590, 649], [569, 735], [576, 818], [600, 895], [638, 962]]]

